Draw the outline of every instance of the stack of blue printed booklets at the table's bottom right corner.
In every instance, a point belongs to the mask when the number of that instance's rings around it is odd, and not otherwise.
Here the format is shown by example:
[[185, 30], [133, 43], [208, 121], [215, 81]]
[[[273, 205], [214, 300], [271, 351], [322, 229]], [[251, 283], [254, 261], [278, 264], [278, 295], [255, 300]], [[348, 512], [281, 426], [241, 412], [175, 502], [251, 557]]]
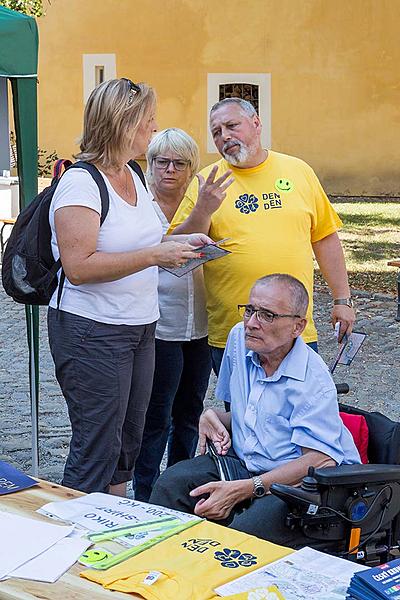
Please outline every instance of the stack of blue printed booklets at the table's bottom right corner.
[[347, 593], [354, 600], [399, 600], [400, 559], [355, 573]]

